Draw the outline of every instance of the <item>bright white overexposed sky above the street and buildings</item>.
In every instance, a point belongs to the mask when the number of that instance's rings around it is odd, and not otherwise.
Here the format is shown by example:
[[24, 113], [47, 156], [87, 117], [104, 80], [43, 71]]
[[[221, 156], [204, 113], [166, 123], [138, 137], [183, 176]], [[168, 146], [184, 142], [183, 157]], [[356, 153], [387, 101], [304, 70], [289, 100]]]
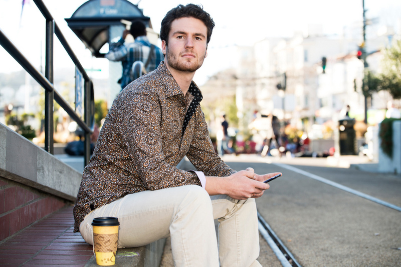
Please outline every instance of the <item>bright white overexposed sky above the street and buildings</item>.
[[[35, 65], [40, 65], [44, 55], [41, 47], [45, 43], [45, 21], [33, 0], [26, 0], [22, 11], [22, 0], [0, 0], [0, 28], [13, 40], [15, 45]], [[93, 58], [88, 49], [68, 27], [65, 18], [86, 0], [43, 0], [61, 28], [70, 46], [90, 76], [107, 75], [107, 59]], [[164, 14], [177, 4], [177, 0], [130, 0], [149, 16], [153, 29], [159, 32]], [[213, 17], [216, 27], [209, 43], [208, 57], [195, 74], [198, 84], [217, 71], [227, 68], [235, 60], [236, 45], [252, 46], [266, 37], [290, 37], [296, 31], [304, 30], [308, 24], [319, 24], [323, 32], [341, 35], [344, 26], [362, 25], [362, 0], [194, 0], [202, 4]], [[7, 6], [7, 8], [4, 8]], [[391, 25], [399, 30], [401, 26], [401, 1], [365, 0], [367, 18], [375, 18], [376, 24]], [[398, 22], [397, 22], [398, 21]], [[362, 36], [361, 36], [362, 38]], [[41, 59], [42, 58], [42, 59]], [[55, 47], [55, 67], [72, 64], [65, 52]], [[67, 63], [68, 61], [68, 63]], [[17, 62], [0, 47], [0, 72], [21, 69]]]

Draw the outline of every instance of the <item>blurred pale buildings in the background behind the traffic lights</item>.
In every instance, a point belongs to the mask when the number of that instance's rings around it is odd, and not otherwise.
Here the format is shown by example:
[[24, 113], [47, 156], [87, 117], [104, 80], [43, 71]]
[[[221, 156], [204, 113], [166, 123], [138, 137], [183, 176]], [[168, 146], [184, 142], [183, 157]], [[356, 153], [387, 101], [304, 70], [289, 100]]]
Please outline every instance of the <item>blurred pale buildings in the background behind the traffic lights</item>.
[[[364, 64], [356, 56], [360, 36], [360, 31], [326, 36], [319, 27], [312, 27], [306, 35], [266, 38], [251, 47], [237, 47], [238, 64], [230, 84], [235, 84], [242, 126], [245, 128], [258, 110], [311, 132], [314, 124], [337, 122], [347, 105], [351, 116], [363, 121]], [[380, 49], [390, 45], [392, 38], [399, 34], [389, 28], [366, 41], [368, 69], [373, 73], [380, 68]], [[389, 99], [387, 92], [368, 99], [368, 124], [382, 119]]]

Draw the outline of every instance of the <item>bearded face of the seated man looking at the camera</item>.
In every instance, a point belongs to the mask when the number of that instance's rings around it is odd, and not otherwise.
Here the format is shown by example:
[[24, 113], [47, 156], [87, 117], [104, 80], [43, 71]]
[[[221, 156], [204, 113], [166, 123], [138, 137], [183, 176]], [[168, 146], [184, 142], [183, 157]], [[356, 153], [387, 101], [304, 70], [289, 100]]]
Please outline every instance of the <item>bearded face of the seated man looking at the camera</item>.
[[207, 28], [193, 17], [181, 17], [171, 23], [168, 45], [162, 41], [166, 65], [178, 71], [194, 72], [207, 56]]

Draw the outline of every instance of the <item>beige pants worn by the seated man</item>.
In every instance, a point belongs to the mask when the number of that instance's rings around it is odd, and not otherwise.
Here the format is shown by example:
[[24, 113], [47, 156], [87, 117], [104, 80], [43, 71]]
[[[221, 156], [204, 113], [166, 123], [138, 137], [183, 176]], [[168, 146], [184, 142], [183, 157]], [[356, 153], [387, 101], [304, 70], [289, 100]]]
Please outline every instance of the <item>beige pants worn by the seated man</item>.
[[[254, 198], [236, 200], [210, 196], [198, 185], [128, 194], [91, 211], [80, 224], [92, 244], [92, 220], [117, 217], [119, 247], [137, 247], [171, 237], [175, 266], [261, 266]], [[219, 241], [214, 219], [219, 219]], [[219, 245], [218, 245], [219, 244]], [[219, 246], [219, 248], [218, 248]]]

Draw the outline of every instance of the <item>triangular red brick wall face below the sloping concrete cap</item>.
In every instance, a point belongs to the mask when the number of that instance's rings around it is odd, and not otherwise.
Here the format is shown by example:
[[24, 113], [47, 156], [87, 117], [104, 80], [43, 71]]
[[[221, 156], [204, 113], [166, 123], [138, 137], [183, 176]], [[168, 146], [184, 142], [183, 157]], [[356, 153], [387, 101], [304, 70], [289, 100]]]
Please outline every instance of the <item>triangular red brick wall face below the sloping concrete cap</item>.
[[0, 242], [66, 204], [60, 198], [0, 177]]

